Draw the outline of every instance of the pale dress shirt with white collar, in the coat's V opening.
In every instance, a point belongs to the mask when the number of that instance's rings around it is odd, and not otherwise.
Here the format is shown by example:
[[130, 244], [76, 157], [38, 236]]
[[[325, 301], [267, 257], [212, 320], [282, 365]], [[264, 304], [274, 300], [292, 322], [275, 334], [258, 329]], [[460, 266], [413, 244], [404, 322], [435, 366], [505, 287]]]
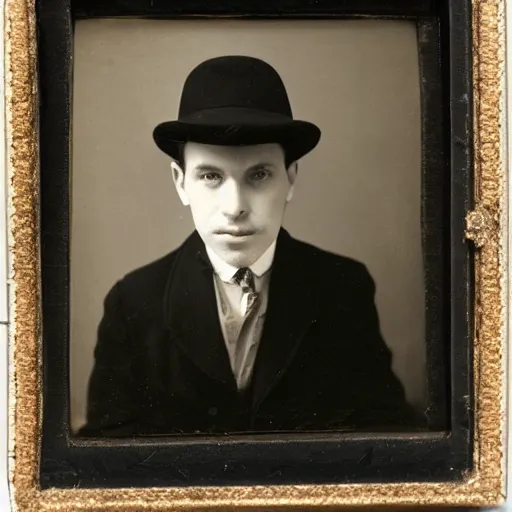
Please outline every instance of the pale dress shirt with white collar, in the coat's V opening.
[[246, 388], [252, 377], [267, 311], [270, 268], [275, 249], [276, 242], [249, 267], [254, 275], [258, 302], [247, 312], [247, 294], [244, 294], [240, 285], [233, 281], [239, 269], [229, 265], [206, 247], [214, 269], [215, 294], [222, 334], [239, 389]]

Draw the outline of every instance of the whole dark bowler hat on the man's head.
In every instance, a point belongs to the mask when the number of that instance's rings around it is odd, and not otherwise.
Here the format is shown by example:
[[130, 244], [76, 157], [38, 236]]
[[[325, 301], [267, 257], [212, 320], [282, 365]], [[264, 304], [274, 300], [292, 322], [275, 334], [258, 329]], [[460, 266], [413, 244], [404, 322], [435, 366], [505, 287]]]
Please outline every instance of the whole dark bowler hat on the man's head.
[[179, 145], [199, 142], [222, 146], [279, 143], [289, 162], [311, 151], [320, 129], [297, 121], [277, 71], [253, 57], [209, 59], [188, 75], [178, 120], [153, 131], [158, 147], [174, 159]]

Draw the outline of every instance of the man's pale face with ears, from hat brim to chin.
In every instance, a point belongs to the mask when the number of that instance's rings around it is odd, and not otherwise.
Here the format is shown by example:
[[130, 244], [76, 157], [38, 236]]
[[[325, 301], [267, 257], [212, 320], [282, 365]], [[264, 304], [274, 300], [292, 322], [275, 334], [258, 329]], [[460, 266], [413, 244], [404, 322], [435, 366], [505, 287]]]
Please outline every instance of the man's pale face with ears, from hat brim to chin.
[[252, 265], [276, 239], [297, 175], [278, 144], [187, 143], [185, 169], [173, 163], [176, 190], [201, 238], [226, 263]]

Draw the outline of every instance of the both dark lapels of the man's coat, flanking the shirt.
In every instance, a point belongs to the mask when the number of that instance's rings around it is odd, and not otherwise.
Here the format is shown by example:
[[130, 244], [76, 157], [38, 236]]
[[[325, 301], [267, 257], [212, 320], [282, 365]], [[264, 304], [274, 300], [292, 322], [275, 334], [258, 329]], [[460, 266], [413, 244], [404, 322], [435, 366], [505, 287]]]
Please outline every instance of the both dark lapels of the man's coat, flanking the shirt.
[[[253, 405], [278, 382], [316, 317], [309, 262], [284, 229], [277, 238], [268, 307], [252, 379]], [[194, 232], [181, 246], [164, 297], [164, 318], [172, 337], [204, 373], [236, 390], [218, 317], [213, 268]]]

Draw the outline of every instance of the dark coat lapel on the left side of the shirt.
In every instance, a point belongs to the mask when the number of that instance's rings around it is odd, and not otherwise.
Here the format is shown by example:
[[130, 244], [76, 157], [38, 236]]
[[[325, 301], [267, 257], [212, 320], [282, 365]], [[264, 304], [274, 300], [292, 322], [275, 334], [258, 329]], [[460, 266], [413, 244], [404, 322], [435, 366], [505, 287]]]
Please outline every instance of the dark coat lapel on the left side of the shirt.
[[213, 269], [197, 231], [178, 251], [167, 282], [164, 315], [171, 336], [195, 365], [236, 389], [218, 316]]

